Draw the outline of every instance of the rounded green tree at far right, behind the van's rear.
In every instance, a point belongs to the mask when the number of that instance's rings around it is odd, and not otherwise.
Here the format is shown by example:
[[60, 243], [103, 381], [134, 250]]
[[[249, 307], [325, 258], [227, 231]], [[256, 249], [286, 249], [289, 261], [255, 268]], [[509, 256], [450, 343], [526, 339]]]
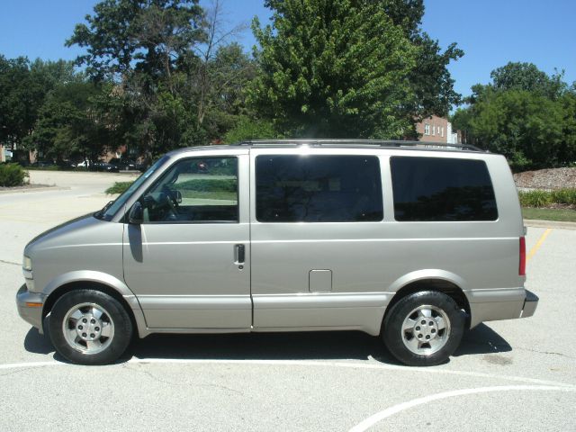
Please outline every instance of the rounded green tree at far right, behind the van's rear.
[[562, 75], [528, 63], [492, 71], [473, 85], [469, 105], [455, 112], [455, 129], [468, 143], [502, 153], [515, 170], [565, 166], [576, 158], [576, 103]]

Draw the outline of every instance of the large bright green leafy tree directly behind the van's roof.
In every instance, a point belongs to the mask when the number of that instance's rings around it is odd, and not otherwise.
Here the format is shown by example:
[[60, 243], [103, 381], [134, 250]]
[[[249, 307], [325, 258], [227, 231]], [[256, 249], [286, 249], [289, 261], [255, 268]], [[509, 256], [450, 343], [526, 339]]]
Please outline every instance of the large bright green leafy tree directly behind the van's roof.
[[446, 65], [462, 51], [419, 30], [421, 1], [269, 0], [273, 23], [253, 31], [262, 47], [250, 101], [281, 132], [398, 138], [458, 100]]

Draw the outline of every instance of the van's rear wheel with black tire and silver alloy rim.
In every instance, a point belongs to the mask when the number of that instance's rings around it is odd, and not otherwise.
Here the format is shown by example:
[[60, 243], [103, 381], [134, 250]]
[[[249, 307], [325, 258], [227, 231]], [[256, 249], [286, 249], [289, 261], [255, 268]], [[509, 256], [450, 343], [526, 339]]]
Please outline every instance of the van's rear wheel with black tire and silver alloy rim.
[[392, 356], [404, 365], [440, 365], [460, 345], [464, 322], [464, 311], [448, 295], [411, 293], [387, 311], [381, 336]]

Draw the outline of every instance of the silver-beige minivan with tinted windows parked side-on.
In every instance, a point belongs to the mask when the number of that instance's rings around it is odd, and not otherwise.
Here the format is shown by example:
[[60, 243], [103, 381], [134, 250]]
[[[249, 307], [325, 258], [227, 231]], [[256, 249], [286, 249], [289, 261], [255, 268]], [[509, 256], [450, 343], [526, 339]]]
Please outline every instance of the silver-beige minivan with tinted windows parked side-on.
[[78, 364], [133, 335], [361, 330], [437, 365], [532, 316], [506, 159], [471, 146], [270, 140], [161, 157], [24, 249], [20, 315]]

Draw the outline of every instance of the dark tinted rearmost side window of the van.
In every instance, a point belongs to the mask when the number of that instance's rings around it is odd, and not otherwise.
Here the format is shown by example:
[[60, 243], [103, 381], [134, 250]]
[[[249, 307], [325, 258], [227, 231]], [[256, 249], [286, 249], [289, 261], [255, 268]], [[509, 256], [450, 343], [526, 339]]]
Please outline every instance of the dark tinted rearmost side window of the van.
[[482, 160], [391, 157], [394, 218], [402, 221], [497, 220]]

